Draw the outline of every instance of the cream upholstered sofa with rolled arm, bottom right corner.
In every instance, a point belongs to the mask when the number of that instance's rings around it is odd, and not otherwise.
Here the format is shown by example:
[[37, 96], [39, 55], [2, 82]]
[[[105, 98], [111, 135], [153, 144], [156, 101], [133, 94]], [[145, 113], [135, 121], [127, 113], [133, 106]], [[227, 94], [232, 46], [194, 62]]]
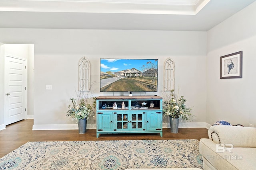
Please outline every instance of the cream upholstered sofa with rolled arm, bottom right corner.
[[256, 128], [215, 125], [199, 151], [204, 170], [256, 170]]

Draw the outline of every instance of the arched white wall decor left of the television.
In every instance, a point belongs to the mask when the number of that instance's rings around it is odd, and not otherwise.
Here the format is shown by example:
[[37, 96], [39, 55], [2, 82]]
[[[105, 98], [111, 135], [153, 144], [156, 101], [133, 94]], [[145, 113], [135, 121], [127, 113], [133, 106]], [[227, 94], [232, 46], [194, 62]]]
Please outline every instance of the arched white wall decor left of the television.
[[86, 57], [79, 62], [79, 91], [90, 91], [90, 62]]

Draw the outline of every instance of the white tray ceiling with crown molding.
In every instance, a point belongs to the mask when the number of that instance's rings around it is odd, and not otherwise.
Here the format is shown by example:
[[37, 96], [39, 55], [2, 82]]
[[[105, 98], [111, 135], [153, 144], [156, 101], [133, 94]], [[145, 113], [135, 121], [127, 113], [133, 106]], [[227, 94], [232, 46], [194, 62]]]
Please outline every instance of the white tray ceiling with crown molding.
[[0, 0], [0, 27], [207, 31], [256, 0]]

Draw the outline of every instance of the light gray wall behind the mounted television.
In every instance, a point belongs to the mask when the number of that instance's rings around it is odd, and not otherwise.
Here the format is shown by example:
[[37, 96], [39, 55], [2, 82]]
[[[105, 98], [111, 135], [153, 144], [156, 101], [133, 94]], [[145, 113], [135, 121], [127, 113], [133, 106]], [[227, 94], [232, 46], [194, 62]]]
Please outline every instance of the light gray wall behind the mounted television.
[[[91, 81], [96, 82], [94, 96], [113, 95], [100, 93], [100, 58], [159, 59], [158, 93], [146, 94], [159, 96], [164, 61], [172, 58], [176, 91], [193, 106], [194, 122], [206, 121], [206, 32], [2, 28], [0, 42], [34, 44], [35, 125], [75, 123], [66, 111], [69, 99], [76, 98], [78, 62], [84, 56], [91, 63]], [[45, 90], [46, 84], [53, 90]], [[95, 117], [89, 123], [95, 123]]]

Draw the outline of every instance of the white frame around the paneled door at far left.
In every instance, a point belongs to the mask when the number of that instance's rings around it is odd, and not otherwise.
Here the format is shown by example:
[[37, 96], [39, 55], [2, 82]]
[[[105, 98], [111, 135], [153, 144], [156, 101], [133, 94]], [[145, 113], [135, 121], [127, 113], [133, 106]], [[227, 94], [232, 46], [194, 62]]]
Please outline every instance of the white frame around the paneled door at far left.
[[[5, 54], [5, 55], [4, 55], [4, 95], [5, 95], [5, 97], [4, 97], [4, 125], [6, 125], [6, 119], [7, 119], [6, 100], [8, 100], [7, 97], [6, 97], [6, 93], [8, 93], [8, 92], [6, 92], [6, 72], [5, 72], [5, 68], [6, 68], [6, 65], [5, 65], [6, 57], [11, 57], [11, 58], [14, 58], [14, 59], [18, 59], [18, 60], [25, 61], [26, 67], [27, 67], [27, 65], [28, 65], [28, 64], [27, 64], [27, 59], [25, 59], [25, 58], [17, 57], [17, 56], [14, 56], [14, 55], [8, 55], [8, 54]], [[26, 92], [25, 92], [25, 96], [23, 96], [23, 97], [24, 97], [24, 107], [25, 107], [26, 110], [27, 110], [27, 107], [28, 107], [28, 103], [27, 103], [28, 69], [27, 69], [27, 68], [26, 68], [26, 70], [25, 70], [25, 73], [26, 73], [26, 80], [25, 80]], [[24, 114], [25, 114], [24, 119], [27, 119], [27, 111], [25, 111]], [[15, 123], [15, 122], [13, 122], [13, 123]], [[9, 124], [11, 124], [11, 123], [9, 123]]]

